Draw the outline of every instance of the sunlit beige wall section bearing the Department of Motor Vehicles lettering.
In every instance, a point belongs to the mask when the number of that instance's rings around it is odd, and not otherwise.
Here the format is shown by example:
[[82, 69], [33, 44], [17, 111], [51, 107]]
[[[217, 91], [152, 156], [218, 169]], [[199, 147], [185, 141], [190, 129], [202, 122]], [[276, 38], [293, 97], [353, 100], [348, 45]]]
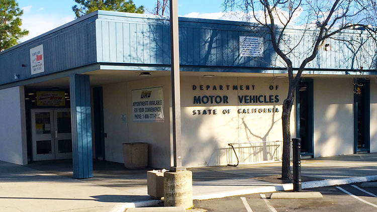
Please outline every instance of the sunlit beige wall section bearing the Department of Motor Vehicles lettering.
[[[281, 141], [281, 104], [287, 95], [287, 81], [285, 78], [272, 77], [184, 77], [181, 80], [183, 165], [193, 167], [234, 163], [234, 160], [229, 159], [228, 143]], [[195, 90], [194, 85], [197, 87]], [[200, 90], [201, 85], [203, 90]], [[223, 86], [223, 90], [220, 90], [220, 85]], [[238, 89], [233, 89], [234, 85], [237, 85]], [[250, 90], [246, 90], [246, 85], [250, 86]], [[272, 89], [269, 88], [270, 85]], [[222, 103], [216, 103], [215, 97], [213, 103], [194, 103], [194, 96], [204, 95], [220, 95], [222, 98], [226, 95], [229, 103], [224, 103], [224, 100]], [[273, 102], [240, 103], [239, 96], [245, 95], [263, 95], [262, 101], [264, 95], [267, 101], [272, 95]], [[279, 99], [278, 102], [275, 102], [276, 97]], [[246, 110], [246, 113], [239, 114], [239, 109], [241, 112]], [[278, 109], [279, 112], [259, 113], [259, 109]], [[201, 115], [198, 114], [198, 110], [201, 110]], [[207, 110], [207, 115], [203, 115], [204, 110]], [[208, 114], [208, 110], [212, 110], [211, 115]], [[213, 114], [213, 110], [216, 110], [216, 115]], [[230, 110], [230, 113], [223, 114], [224, 110]], [[256, 113], [253, 113], [253, 110], [256, 110]], [[291, 118], [294, 134], [294, 111]], [[253, 157], [253, 154], [250, 156]], [[268, 154], [273, 154], [273, 151]], [[246, 158], [243, 162], [248, 162], [249, 155], [243, 157]]]

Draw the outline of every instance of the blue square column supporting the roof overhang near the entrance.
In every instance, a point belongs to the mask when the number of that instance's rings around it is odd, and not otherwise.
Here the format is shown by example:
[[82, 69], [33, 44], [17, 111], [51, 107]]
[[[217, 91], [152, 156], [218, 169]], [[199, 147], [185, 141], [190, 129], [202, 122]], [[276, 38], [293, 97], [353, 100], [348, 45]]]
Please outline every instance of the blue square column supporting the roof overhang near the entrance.
[[93, 177], [89, 75], [69, 77], [72, 122], [73, 177]]

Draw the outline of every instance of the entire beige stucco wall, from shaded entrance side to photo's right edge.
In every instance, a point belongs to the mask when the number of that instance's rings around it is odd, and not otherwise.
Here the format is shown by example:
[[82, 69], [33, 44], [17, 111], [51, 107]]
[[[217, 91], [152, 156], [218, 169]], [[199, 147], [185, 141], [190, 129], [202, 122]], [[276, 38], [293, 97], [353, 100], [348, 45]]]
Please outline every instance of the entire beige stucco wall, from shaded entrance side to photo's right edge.
[[[314, 156], [352, 154], [353, 79], [321, 77], [314, 78], [313, 83]], [[193, 88], [194, 85], [196, 89]], [[200, 89], [201, 85], [203, 85], [203, 90]], [[207, 85], [209, 85], [209, 89], [207, 89]], [[223, 86], [223, 90], [220, 90], [220, 85]], [[227, 85], [229, 85], [229, 89]], [[237, 86], [237, 89], [233, 89], [234, 85]], [[241, 85], [243, 86], [242, 90]], [[246, 85], [250, 86], [249, 90], [246, 90]], [[377, 126], [377, 91], [373, 90], [376, 85], [377, 83], [371, 80], [372, 152], [377, 151], [377, 127], [375, 127]], [[131, 90], [155, 86], [163, 86], [165, 121], [162, 123], [132, 122]], [[216, 90], [214, 86], [216, 86]], [[278, 86], [277, 89], [276, 86]], [[103, 88], [105, 133], [108, 134], [105, 139], [106, 159], [123, 162], [123, 143], [147, 142], [149, 144], [149, 166], [169, 168], [172, 155], [170, 77], [104, 85]], [[230, 158], [228, 143], [282, 140], [281, 105], [287, 95], [287, 89], [287, 78], [182, 76], [183, 166], [234, 163], [235, 158], [233, 160]], [[209, 100], [208, 103], [194, 103], [195, 96], [204, 95], [213, 96], [213, 102], [211, 103]], [[271, 95], [273, 102], [241, 103], [239, 96], [246, 95], [263, 95], [261, 97], [263, 101], [264, 96], [269, 101]], [[216, 103], [216, 96], [221, 96], [222, 101]], [[224, 96], [228, 97], [228, 102], [224, 102]], [[220, 97], [217, 100], [220, 100]], [[239, 109], [241, 109], [240, 114], [238, 113]], [[268, 109], [278, 109], [279, 112], [268, 113]], [[201, 110], [201, 115], [198, 110]], [[207, 112], [206, 115], [203, 115], [204, 110]], [[214, 114], [214, 110], [216, 110], [216, 114]], [[242, 113], [244, 110], [246, 113]], [[267, 110], [267, 113], [263, 113], [263, 110]], [[122, 114], [127, 115], [127, 123], [120, 121]], [[295, 107], [293, 107], [291, 114], [292, 137], [296, 136], [295, 119]]]

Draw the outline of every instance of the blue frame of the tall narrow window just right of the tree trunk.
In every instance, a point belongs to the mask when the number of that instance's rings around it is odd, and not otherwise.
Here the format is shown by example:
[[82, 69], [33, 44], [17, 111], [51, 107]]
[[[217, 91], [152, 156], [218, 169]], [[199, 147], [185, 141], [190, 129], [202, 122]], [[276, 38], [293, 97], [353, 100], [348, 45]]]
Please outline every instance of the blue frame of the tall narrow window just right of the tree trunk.
[[[303, 156], [314, 156], [314, 86], [313, 79], [302, 79], [300, 81], [308, 84], [308, 152], [302, 152]], [[296, 136], [300, 138], [300, 83], [296, 87]]]

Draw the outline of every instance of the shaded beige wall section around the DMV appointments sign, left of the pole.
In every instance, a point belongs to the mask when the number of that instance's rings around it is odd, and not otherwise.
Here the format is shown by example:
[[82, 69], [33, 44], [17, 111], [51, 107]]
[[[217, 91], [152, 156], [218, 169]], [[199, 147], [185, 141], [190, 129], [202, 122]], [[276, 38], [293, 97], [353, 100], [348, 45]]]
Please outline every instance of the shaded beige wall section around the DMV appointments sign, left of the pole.
[[[164, 122], [132, 122], [132, 89], [163, 86]], [[149, 78], [103, 86], [106, 160], [124, 162], [123, 143], [148, 143], [148, 165], [156, 168], [170, 167], [170, 79]], [[127, 122], [121, 122], [121, 115]]]

